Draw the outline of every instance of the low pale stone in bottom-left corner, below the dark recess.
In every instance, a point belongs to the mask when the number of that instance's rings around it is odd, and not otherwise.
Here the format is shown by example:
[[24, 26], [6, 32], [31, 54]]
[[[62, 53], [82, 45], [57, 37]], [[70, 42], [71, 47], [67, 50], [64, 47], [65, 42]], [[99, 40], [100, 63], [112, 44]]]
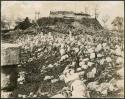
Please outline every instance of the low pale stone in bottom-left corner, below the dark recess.
[[17, 90], [9, 91], [9, 92], [1, 91], [1, 98], [15, 98], [15, 97], [18, 97], [17, 95], [18, 95]]

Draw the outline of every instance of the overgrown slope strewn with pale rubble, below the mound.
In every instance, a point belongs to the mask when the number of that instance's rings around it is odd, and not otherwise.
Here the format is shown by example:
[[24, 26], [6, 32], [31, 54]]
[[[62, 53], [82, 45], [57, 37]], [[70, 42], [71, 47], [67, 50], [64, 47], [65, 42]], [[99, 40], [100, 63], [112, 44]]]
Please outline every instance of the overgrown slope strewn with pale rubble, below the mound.
[[84, 72], [81, 80], [91, 97], [123, 96], [123, 86], [119, 86], [123, 82], [122, 33], [119, 36], [109, 31], [90, 34], [20, 36], [16, 41], [21, 45], [20, 97], [57, 94], [66, 87], [60, 77], [67, 67], [76, 73]]

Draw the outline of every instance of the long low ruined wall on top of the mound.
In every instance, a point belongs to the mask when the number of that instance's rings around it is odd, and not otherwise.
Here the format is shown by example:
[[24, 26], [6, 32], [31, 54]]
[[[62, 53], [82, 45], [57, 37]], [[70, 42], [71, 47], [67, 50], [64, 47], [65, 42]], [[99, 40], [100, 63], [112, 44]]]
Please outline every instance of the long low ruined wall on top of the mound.
[[60, 18], [90, 18], [89, 14], [86, 13], [75, 13], [73, 11], [50, 11], [50, 17], [60, 17]]

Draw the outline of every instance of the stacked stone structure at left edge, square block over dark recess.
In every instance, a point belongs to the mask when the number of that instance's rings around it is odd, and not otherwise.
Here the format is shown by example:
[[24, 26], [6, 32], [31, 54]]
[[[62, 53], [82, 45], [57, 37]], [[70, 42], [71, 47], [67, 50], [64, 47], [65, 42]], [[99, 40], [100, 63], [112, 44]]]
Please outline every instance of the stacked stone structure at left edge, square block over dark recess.
[[1, 98], [15, 98], [17, 93], [17, 65], [20, 49], [16, 44], [1, 44]]

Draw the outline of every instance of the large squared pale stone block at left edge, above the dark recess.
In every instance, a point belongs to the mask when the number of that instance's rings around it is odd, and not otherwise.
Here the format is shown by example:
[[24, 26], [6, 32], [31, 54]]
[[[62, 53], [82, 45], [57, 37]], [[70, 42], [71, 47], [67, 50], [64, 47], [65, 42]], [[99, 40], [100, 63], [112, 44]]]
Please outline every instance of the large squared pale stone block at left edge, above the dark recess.
[[19, 46], [16, 44], [2, 44], [1, 66], [19, 64]]

